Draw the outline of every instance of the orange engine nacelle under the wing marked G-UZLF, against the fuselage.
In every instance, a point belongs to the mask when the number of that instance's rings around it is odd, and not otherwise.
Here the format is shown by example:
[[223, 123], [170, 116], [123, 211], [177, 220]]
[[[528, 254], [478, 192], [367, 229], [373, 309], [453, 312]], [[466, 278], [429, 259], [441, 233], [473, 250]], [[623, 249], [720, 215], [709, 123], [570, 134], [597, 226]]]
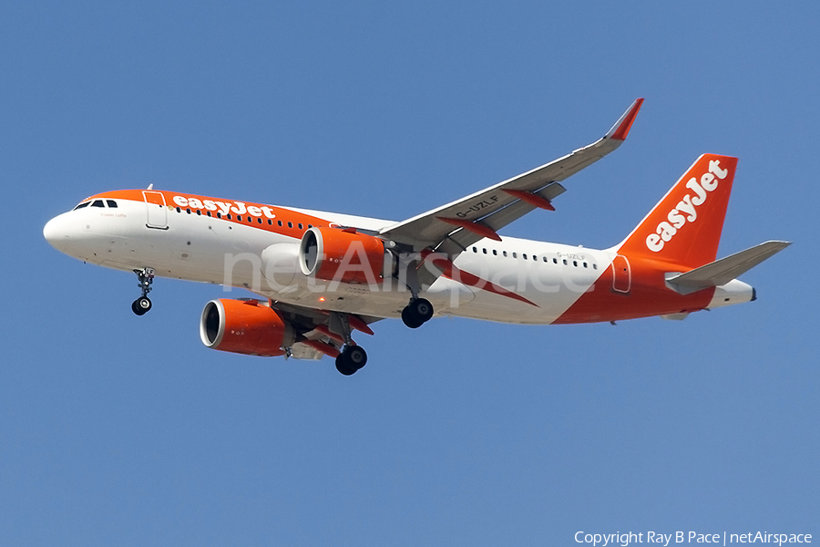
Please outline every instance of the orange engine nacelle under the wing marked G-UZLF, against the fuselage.
[[384, 241], [352, 228], [311, 228], [304, 232], [299, 245], [302, 274], [323, 281], [378, 282], [385, 265], [391, 267], [392, 256], [384, 250]]

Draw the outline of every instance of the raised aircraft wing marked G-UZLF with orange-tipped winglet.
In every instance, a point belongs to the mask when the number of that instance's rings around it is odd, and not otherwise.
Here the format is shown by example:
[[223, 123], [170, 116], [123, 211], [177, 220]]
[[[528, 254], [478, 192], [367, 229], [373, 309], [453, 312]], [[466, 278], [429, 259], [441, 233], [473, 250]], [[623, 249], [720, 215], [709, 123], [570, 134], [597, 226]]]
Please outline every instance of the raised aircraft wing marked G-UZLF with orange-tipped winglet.
[[451, 258], [482, 238], [500, 240], [497, 231], [510, 222], [537, 207], [551, 210], [550, 201], [565, 191], [559, 181], [617, 149], [629, 134], [642, 104], [642, 98], [636, 99], [612, 129], [589, 146], [466, 198], [388, 226], [380, 235], [413, 245], [415, 251], [431, 247]]

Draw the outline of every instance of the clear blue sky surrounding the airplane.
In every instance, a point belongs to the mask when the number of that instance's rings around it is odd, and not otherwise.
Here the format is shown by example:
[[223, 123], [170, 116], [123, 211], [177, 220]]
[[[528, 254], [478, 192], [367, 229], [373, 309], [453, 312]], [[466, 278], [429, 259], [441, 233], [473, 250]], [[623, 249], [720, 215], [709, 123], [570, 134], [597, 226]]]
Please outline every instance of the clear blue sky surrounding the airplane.
[[[815, 3], [0, 5], [0, 543], [569, 545], [820, 534]], [[794, 245], [759, 299], [611, 325], [397, 321], [333, 362], [202, 346], [213, 286], [57, 253], [141, 188], [400, 220], [599, 138], [554, 213], [606, 247], [703, 152], [740, 158], [720, 254]], [[240, 294], [237, 294], [240, 295]]]

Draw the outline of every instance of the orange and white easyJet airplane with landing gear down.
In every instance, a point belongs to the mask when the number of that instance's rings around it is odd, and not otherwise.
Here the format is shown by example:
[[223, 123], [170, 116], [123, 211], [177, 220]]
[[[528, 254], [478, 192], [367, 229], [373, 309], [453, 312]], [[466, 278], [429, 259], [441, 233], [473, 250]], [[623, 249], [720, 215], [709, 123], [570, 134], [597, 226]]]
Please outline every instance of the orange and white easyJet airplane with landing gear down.
[[556, 325], [692, 312], [753, 301], [737, 277], [791, 243], [769, 241], [716, 260], [737, 159], [704, 154], [620, 243], [609, 249], [502, 237], [536, 209], [554, 211], [561, 182], [630, 133], [643, 99], [586, 147], [402, 222], [200, 196], [99, 193], [43, 230], [58, 251], [137, 274], [137, 315], [156, 277], [250, 290], [211, 300], [205, 346], [253, 356], [367, 362], [354, 331], [434, 316]]

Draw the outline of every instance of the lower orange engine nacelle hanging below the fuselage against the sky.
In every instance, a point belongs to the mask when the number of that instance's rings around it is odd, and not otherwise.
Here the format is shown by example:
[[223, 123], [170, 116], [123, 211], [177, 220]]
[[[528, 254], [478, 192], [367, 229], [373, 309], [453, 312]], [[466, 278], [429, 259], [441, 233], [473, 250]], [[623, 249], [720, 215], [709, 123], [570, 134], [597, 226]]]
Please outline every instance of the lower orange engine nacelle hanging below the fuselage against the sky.
[[200, 338], [211, 349], [265, 357], [284, 355], [294, 341], [291, 324], [267, 304], [227, 298], [205, 304]]

